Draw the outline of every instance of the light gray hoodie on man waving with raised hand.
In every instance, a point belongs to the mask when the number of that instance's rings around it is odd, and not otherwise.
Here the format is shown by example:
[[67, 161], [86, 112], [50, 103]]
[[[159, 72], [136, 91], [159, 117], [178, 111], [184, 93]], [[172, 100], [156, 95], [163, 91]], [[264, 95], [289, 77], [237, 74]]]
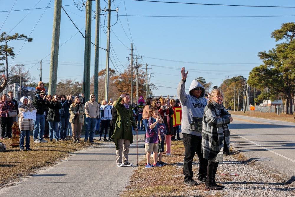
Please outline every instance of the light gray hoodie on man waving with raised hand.
[[[182, 79], [177, 87], [177, 96], [181, 103], [181, 133], [187, 133], [195, 136], [201, 136], [202, 130], [202, 118], [204, 114], [204, 108], [207, 105], [207, 99], [204, 97], [205, 88], [197, 80], [191, 82], [189, 87], [189, 94], [185, 93], [185, 83]], [[197, 99], [191, 94], [191, 90], [201, 87], [202, 93]]]

